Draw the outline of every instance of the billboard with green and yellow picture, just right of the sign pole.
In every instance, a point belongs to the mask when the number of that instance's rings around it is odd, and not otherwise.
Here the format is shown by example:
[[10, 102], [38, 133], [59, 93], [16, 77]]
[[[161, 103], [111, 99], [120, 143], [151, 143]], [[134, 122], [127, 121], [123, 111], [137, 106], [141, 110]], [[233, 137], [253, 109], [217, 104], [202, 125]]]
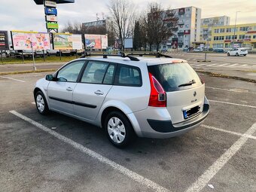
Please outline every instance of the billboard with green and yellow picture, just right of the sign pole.
[[82, 35], [53, 33], [54, 50], [81, 50], [82, 48]]

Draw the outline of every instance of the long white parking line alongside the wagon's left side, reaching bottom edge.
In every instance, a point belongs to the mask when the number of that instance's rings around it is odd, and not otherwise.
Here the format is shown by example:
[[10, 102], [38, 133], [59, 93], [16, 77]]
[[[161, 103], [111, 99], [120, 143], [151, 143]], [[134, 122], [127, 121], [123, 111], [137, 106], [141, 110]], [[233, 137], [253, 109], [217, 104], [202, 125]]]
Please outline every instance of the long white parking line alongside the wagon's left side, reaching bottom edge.
[[56, 133], [53, 130], [50, 130], [46, 126], [43, 126], [41, 123], [36, 122], [35, 120], [30, 119], [29, 117], [24, 116], [23, 114], [18, 113], [17, 111], [10, 111], [11, 114], [20, 117], [23, 120], [31, 123], [34, 126], [37, 126], [39, 129], [43, 130], [46, 133], [49, 133], [51, 136], [56, 137], [57, 139], [61, 140], [62, 142], [66, 142], [69, 145], [72, 145], [73, 148], [78, 149], [79, 151], [83, 152], [84, 154], [93, 157], [96, 160], [99, 160], [101, 163], [105, 165], [111, 166], [113, 169], [117, 170], [118, 172], [122, 173], [123, 175], [132, 178], [134, 181], [139, 182], [140, 184], [144, 184], [146, 187], [151, 188], [155, 191], [169, 191], [166, 188], [156, 184], [154, 181], [149, 180], [148, 178], [143, 177], [142, 175], [137, 174], [136, 172], [131, 171], [130, 169], [126, 169], [125, 167], [115, 163], [112, 160], [109, 160], [106, 157], [103, 157], [100, 154], [97, 154], [95, 151], [90, 150], [89, 148], [85, 148], [83, 145], [74, 142], [72, 139], [66, 138], [65, 136]]

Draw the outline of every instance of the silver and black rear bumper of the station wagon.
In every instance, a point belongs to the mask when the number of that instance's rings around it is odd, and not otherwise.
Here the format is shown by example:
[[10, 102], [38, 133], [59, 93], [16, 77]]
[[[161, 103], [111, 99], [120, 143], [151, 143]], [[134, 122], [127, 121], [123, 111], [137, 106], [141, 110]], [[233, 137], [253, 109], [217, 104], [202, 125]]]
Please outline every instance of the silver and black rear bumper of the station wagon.
[[147, 123], [139, 122], [142, 137], [164, 139], [174, 136], [179, 136], [181, 134], [187, 133], [190, 130], [194, 130], [196, 127], [203, 123], [203, 120], [209, 114], [209, 102], [208, 99], [204, 100], [203, 111], [196, 117], [190, 120], [185, 120], [181, 123], [172, 123], [171, 118], [167, 120], [156, 120], [156, 118], [148, 118]]

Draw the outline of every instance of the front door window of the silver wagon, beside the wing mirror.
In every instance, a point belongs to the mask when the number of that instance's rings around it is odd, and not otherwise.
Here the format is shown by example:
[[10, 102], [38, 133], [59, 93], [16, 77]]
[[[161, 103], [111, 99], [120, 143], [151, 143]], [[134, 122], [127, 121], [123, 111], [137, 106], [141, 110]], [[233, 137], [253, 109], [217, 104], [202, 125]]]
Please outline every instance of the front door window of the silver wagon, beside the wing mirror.
[[83, 66], [84, 60], [70, 63], [59, 70], [57, 75], [58, 81], [76, 82]]

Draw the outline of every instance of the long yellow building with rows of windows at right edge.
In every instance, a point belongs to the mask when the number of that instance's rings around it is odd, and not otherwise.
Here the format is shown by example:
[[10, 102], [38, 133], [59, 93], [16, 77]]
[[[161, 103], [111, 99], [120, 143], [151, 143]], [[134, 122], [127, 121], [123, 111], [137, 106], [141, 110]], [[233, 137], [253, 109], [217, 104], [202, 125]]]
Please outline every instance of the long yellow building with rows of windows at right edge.
[[230, 26], [212, 26], [212, 38], [209, 47], [230, 49], [245, 47], [256, 49], [256, 23], [246, 23]]

